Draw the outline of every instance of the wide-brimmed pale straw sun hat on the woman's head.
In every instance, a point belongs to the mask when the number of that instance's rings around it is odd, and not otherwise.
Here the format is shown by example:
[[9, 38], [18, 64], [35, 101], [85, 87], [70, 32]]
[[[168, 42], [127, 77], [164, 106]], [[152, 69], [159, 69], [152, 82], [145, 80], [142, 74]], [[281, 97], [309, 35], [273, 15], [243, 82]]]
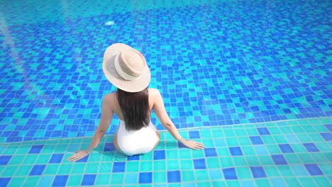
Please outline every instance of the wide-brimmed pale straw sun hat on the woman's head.
[[138, 92], [150, 84], [151, 73], [143, 55], [123, 43], [109, 46], [104, 53], [103, 71], [118, 89]]

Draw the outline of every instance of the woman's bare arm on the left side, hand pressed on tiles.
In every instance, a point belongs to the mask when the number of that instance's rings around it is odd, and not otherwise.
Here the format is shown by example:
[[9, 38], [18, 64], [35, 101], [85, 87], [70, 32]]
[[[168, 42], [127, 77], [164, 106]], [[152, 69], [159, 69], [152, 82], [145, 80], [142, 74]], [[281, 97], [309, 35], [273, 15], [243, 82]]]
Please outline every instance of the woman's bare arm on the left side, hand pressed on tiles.
[[99, 145], [101, 138], [104, 137], [106, 130], [109, 129], [109, 124], [111, 123], [111, 120], [114, 115], [114, 112], [111, 108], [112, 96], [113, 96], [112, 94], [107, 94], [106, 96], [104, 96], [101, 107], [101, 119], [98, 128], [94, 132], [94, 137], [92, 138], [90, 146], [85, 150], [79, 150], [75, 152], [75, 154], [68, 157], [67, 161], [75, 162], [79, 159], [83, 159], [84, 157], [87, 157], [87, 155], [90, 154], [92, 150]]

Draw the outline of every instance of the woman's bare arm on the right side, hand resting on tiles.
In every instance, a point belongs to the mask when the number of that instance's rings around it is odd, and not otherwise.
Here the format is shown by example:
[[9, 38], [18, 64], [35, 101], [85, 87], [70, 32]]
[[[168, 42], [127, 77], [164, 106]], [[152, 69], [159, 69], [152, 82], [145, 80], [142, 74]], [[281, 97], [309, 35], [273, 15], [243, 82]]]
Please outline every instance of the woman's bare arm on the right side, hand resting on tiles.
[[179, 131], [175, 127], [174, 123], [168, 116], [164, 101], [162, 100], [162, 96], [157, 89], [152, 89], [153, 91], [153, 111], [157, 118], [160, 120], [160, 123], [167, 129], [168, 132], [175, 138], [175, 140], [181, 142], [184, 146], [189, 147], [191, 149], [204, 149], [204, 145], [200, 142], [195, 142], [191, 140], [184, 140], [184, 138], [179, 134]]

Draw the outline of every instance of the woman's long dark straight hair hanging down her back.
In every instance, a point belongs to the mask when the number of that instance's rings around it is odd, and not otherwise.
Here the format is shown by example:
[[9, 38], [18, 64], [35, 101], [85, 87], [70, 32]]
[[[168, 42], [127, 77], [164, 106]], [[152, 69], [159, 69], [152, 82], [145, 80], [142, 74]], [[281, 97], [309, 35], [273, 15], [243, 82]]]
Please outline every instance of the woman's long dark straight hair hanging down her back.
[[133, 93], [118, 89], [116, 96], [123, 113], [126, 130], [140, 130], [149, 125], [148, 88]]

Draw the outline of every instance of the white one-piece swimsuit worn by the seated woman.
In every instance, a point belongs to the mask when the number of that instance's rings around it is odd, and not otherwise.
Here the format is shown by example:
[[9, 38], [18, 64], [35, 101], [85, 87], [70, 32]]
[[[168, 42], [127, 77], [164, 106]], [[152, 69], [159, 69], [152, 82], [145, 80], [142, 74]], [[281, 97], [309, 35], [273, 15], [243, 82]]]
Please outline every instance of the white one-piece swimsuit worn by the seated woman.
[[155, 125], [151, 121], [148, 127], [140, 130], [126, 130], [124, 121], [120, 120], [117, 139], [121, 151], [132, 156], [152, 151], [159, 137], [157, 137]]

